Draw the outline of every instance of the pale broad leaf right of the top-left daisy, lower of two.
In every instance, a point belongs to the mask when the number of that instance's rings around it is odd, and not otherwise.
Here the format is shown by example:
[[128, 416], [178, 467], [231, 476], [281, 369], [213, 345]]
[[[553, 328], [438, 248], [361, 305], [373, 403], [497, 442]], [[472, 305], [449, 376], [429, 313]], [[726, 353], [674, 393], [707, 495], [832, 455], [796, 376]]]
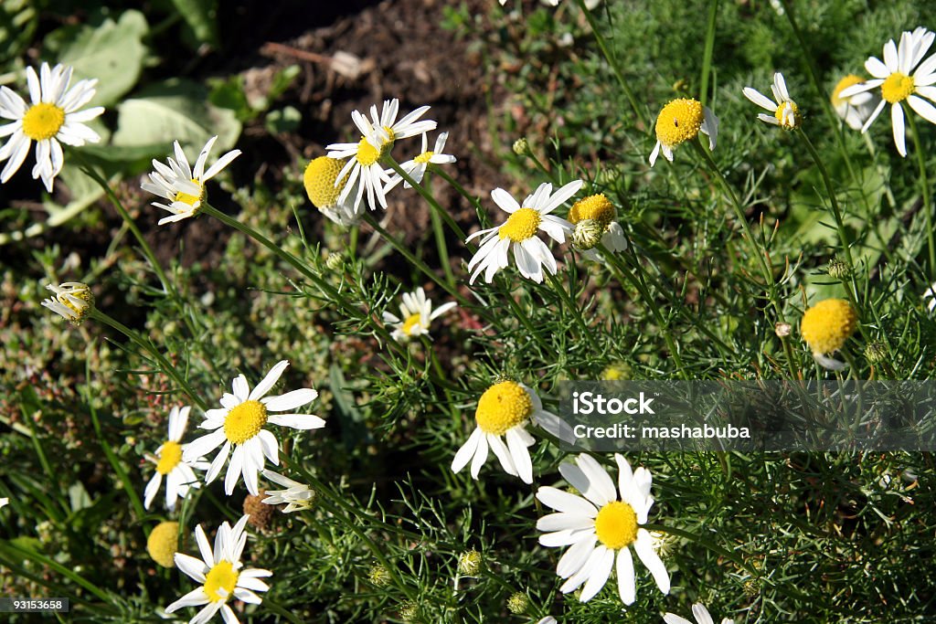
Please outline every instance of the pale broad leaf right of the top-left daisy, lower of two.
[[120, 147], [164, 145], [172, 141], [183, 149], [200, 150], [218, 135], [214, 150], [230, 149], [241, 135], [241, 123], [233, 110], [218, 109], [208, 101], [208, 90], [188, 80], [167, 80], [147, 87], [117, 106], [117, 131], [113, 144]]

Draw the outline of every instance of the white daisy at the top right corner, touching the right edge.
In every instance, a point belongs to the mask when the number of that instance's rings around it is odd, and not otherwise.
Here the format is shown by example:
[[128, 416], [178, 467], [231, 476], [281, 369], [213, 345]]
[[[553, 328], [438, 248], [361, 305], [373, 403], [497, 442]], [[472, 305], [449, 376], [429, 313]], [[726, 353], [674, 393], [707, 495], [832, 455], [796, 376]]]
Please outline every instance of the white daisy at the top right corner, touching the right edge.
[[875, 56], [865, 61], [865, 69], [873, 78], [841, 92], [842, 97], [852, 97], [881, 87], [882, 99], [871, 111], [868, 121], [861, 127], [861, 132], [867, 132], [870, 124], [874, 123], [884, 110], [885, 104], [890, 104], [894, 144], [897, 145], [901, 156], [907, 155], [903, 125], [904, 102], [929, 123], [936, 123], [936, 107], [927, 101], [936, 101], [936, 86], [933, 86], [933, 83], [936, 83], [936, 54], [923, 61], [934, 38], [936, 34], [920, 27], [912, 33], [905, 31], [900, 36], [899, 46], [891, 39], [884, 46], [884, 62]]

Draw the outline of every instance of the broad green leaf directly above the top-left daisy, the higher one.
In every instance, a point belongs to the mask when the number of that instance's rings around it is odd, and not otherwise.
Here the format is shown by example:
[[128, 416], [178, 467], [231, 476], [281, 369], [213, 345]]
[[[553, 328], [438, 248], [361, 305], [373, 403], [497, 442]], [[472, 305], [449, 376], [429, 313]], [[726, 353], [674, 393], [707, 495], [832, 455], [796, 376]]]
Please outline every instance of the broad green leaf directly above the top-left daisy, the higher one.
[[142, 38], [149, 27], [137, 10], [127, 10], [117, 22], [96, 26], [63, 26], [46, 39], [46, 56], [75, 68], [74, 78], [97, 79], [92, 106], [109, 106], [139, 80], [146, 56]]

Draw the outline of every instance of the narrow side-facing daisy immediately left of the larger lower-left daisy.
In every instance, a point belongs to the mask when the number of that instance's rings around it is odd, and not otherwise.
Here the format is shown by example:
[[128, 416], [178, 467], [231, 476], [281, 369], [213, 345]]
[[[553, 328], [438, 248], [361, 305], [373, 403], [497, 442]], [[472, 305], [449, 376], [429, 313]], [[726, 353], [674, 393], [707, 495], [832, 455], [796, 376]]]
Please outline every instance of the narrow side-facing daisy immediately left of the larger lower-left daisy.
[[198, 487], [198, 480], [192, 469], [208, 470], [209, 464], [203, 461], [183, 461], [182, 436], [185, 426], [188, 425], [188, 413], [192, 408], [187, 405], [182, 409], [173, 407], [169, 412], [169, 431], [166, 442], [156, 449], [155, 455], [147, 455], [146, 460], [156, 465], [156, 472], [143, 492], [143, 506], [150, 508], [156, 498], [156, 492], [166, 477], [166, 507], [169, 511], [175, 509], [176, 499], [188, 496], [190, 487]]

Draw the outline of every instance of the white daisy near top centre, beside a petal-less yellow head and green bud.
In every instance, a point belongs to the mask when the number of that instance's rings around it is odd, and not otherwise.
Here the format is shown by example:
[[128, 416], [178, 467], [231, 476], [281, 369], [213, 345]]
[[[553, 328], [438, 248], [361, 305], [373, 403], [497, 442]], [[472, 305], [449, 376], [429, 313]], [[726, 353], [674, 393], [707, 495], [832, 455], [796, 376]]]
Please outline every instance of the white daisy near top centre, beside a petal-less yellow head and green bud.
[[474, 271], [469, 283], [475, 283], [482, 271], [484, 281], [490, 283], [497, 271], [507, 266], [507, 252], [510, 251], [511, 243], [520, 275], [542, 283], [544, 266], [551, 275], [555, 275], [556, 258], [549, 252], [546, 243], [536, 236], [536, 232], [542, 230], [549, 238], [565, 242], [565, 235], [571, 233], [572, 224], [549, 213], [578, 193], [582, 183], [580, 180], [571, 181], [555, 193], [552, 193], [552, 184], [540, 184], [533, 195], [523, 200], [522, 208], [504, 189], [491, 191], [490, 197], [494, 203], [510, 216], [503, 225], [480, 230], [465, 239], [465, 242], [469, 242], [481, 237], [480, 247], [468, 263], [468, 270]]

